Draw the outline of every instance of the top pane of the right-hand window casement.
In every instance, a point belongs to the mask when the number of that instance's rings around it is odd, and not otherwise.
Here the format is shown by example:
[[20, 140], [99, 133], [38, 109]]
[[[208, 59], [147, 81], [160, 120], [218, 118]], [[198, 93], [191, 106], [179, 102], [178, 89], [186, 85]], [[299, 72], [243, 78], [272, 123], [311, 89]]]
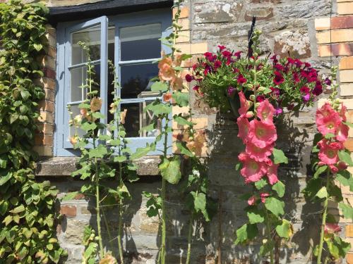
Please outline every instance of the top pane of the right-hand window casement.
[[160, 24], [121, 28], [121, 61], [160, 58], [161, 35]]

